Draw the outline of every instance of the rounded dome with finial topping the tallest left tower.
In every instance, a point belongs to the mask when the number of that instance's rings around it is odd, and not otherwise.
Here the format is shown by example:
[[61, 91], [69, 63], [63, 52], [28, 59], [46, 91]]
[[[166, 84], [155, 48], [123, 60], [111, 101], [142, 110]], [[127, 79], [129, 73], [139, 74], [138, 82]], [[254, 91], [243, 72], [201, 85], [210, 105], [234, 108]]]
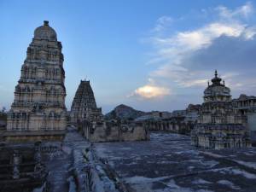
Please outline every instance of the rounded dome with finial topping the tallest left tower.
[[44, 26], [38, 26], [34, 32], [34, 38], [56, 40], [57, 34], [55, 30], [49, 26], [49, 21], [44, 20]]

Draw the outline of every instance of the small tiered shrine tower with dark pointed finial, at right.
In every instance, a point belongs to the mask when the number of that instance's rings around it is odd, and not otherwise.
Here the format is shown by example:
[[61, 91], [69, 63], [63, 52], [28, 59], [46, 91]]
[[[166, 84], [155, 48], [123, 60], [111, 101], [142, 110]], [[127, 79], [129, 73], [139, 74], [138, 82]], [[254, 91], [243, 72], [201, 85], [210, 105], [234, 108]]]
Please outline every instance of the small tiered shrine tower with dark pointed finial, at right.
[[198, 124], [191, 131], [192, 144], [202, 148], [242, 148], [251, 146], [246, 119], [235, 108], [230, 88], [215, 71], [212, 84], [204, 91]]

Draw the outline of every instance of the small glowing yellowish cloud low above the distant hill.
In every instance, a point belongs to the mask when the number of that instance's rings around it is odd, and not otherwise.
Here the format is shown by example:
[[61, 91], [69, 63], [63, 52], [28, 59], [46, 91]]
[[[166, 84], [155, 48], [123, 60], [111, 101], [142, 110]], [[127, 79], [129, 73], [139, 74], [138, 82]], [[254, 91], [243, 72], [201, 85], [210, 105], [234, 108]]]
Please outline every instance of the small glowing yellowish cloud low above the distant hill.
[[143, 99], [159, 98], [162, 96], [170, 95], [170, 89], [166, 87], [158, 87], [150, 84], [146, 84], [142, 87], [137, 88], [131, 96], [139, 96]]

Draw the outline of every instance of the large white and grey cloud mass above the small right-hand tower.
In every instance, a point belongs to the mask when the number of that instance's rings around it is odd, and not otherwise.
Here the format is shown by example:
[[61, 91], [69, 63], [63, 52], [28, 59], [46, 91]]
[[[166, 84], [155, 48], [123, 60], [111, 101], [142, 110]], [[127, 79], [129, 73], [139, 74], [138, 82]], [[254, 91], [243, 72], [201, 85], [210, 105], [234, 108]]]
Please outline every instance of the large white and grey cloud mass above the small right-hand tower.
[[148, 63], [156, 64], [156, 68], [148, 76], [155, 85], [167, 84], [172, 90], [189, 93], [189, 89], [206, 87], [218, 69], [231, 89], [251, 89], [256, 72], [253, 4], [245, 3], [236, 9], [218, 6], [212, 10], [209, 15], [218, 16], [201, 26], [165, 35], [158, 31], [149, 38], [154, 54]]

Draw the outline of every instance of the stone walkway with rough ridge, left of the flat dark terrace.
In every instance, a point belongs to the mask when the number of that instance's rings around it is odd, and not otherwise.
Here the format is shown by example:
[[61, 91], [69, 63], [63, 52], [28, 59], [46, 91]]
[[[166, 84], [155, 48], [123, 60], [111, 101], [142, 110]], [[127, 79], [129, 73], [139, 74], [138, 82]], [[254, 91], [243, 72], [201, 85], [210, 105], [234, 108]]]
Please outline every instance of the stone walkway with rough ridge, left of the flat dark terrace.
[[[42, 143], [42, 160], [49, 172], [44, 186], [33, 192], [125, 191], [111, 169], [92, 153], [91, 144], [73, 127], [62, 143]], [[111, 176], [110, 176], [111, 175]]]

